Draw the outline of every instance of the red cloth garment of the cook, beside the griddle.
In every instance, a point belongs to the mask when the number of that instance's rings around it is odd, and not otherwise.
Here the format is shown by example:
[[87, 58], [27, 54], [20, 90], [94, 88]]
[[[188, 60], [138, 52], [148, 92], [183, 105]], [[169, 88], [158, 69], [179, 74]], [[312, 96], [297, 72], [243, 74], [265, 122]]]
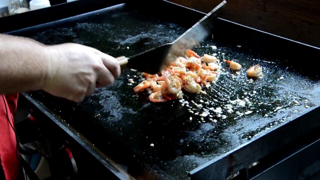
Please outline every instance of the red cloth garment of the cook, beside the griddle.
[[16, 156], [16, 136], [8, 121], [9, 117], [12, 126], [14, 126], [13, 115], [17, 110], [18, 95], [0, 94], [0, 178], [4, 176], [5, 180], [24, 179], [20, 162]]

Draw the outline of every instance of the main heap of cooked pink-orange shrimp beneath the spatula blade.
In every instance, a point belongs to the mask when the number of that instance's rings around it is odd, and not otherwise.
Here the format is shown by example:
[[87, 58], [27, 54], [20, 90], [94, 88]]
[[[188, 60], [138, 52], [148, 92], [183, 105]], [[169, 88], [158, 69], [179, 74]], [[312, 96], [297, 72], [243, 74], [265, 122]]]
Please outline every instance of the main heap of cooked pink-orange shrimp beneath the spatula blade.
[[151, 102], [182, 98], [181, 89], [189, 93], [206, 94], [200, 85], [217, 80], [218, 73], [215, 70], [220, 68], [216, 64], [219, 60], [208, 54], [200, 57], [190, 49], [185, 54], [186, 58], [177, 57], [175, 62], [166, 65], [164, 70], [161, 70], [161, 75], [143, 73], [146, 80], [134, 87], [134, 92], [148, 90]]

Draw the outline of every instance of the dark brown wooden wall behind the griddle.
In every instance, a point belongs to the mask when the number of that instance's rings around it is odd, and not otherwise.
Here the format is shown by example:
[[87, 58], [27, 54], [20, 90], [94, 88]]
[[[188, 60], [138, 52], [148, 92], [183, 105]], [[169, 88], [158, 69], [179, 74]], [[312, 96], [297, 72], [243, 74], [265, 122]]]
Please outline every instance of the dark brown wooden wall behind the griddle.
[[[169, 0], [210, 12], [222, 0]], [[227, 0], [220, 16], [239, 24], [320, 47], [320, 0]]]

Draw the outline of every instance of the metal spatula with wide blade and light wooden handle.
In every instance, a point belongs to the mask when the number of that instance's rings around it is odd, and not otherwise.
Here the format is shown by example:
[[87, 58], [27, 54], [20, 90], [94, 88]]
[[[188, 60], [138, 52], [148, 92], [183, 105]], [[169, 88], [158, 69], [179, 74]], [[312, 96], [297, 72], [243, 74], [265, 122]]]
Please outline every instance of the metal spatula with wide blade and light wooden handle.
[[200, 45], [211, 34], [215, 17], [226, 3], [226, 1], [222, 1], [174, 42], [158, 46], [129, 58], [124, 56], [116, 58], [120, 62], [121, 70], [129, 68], [148, 74], [160, 72], [165, 64], [174, 61], [177, 56], [184, 56], [187, 49]]

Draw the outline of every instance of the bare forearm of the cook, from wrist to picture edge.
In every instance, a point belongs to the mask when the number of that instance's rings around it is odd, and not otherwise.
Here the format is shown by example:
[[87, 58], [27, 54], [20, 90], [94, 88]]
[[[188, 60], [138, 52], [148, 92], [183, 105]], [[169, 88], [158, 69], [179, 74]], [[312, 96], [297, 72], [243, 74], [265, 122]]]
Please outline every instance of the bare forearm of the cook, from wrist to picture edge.
[[0, 34], [0, 94], [41, 89], [49, 67], [45, 45]]

